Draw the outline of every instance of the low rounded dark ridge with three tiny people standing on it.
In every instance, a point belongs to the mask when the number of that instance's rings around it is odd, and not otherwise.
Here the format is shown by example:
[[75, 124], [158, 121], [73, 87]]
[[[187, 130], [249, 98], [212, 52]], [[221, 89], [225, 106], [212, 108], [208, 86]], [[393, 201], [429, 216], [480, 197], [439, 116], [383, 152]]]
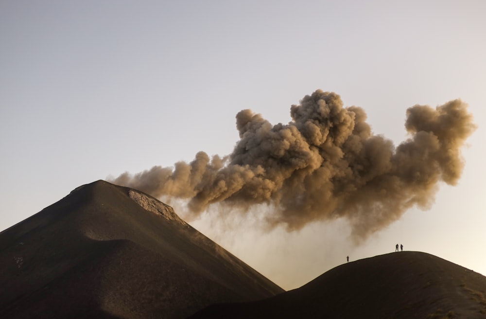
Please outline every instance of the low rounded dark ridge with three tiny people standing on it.
[[486, 277], [427, 253], [395, 252], [337, 266], [266, 300], [216, 304], [190, 318], [486, 318]]

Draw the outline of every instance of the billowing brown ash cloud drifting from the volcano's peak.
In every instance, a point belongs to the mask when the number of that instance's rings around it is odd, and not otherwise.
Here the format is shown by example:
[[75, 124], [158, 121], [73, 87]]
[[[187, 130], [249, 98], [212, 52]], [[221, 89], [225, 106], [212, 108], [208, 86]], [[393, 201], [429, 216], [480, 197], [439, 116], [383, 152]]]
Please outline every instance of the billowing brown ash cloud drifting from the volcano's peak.
[[214, 203], [243, 212], [267, 203], [269, 225], [288, 230], [345, 217], [353, 235], [364, 238], [414, 205], [429, 208], [440, 181], [456, 184], [464, 166], [460, 148], [475, 129], [460, 100], [407, 109], [410, 138], [397, 147], [372, 134], [361, 107], [343, 107], [332, 92], [317, 90], [290, 113], [289, 124], [272, 125], [242, 110], [240, 140], [229, 156], [199, 152], [190, 163], [124, 173], [113, 182], [188, 199], [196, 214]]

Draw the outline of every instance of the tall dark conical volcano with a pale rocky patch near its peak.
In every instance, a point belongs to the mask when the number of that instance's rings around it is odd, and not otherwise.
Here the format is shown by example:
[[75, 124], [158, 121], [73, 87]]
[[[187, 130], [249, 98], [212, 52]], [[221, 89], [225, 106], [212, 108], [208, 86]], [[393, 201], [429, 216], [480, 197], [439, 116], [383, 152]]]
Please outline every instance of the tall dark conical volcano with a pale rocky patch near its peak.
[[283, 289], [142, 192], [96, 181], [0, 233], [0, 318], [185, 318]]

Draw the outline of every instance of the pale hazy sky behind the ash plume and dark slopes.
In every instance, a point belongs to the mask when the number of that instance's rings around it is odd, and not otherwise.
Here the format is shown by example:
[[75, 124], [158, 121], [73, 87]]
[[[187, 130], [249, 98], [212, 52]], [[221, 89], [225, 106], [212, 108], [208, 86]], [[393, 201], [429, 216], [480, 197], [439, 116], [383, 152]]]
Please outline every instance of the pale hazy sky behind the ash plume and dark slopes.
[[243, 109], [288, 124], [306, 95], [335, 92], [398, 145], [409, 107], [461, 99], [477, 128], [457, 184], [362, 240], [346, 218], [288, 231], [266, 227], [262, 206], [194, 217], [170, 204], [285, 289], [397, 243], [486, 275], [485, 12], [480, 0], [3, 0], [0, 230], [98, 179], [229, 155]]

